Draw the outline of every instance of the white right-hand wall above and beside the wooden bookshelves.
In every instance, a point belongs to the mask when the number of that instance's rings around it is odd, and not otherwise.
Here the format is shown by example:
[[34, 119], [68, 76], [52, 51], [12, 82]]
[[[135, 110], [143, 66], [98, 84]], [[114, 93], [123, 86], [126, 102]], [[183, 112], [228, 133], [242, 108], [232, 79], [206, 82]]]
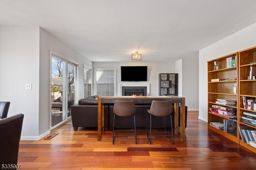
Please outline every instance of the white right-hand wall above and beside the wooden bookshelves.
[[207, 61], [256, 46], [256, 23], [199, 51], [199, 119], [207, 121]]

